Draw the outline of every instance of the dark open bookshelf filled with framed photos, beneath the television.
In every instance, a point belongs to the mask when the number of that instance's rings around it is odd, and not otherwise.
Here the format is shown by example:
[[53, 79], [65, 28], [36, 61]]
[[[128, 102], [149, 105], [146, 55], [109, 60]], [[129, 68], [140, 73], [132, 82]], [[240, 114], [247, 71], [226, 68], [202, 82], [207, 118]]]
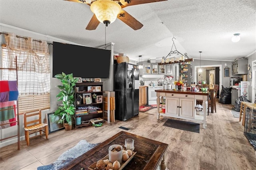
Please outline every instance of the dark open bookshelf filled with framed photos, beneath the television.
[[[93, 95], [97, 95], [93, 99]], [[103, 119], [103, 83], [88, 82], [75, 85], [75, 118], [81, 117], [81, 124], [75, 123], [75, 128], [92, 125], [91, 119]]]

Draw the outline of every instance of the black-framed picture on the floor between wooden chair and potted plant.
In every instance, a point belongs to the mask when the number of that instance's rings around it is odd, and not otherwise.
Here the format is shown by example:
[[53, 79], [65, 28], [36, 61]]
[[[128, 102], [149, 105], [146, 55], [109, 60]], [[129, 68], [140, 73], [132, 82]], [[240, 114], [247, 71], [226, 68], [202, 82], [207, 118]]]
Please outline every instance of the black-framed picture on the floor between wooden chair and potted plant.
[[64, 129], [63, 123], [58, 123], [60, 116], [55, 116], [54, 113], [47, 113], [46, 121], [48, 123], [49, 133], [57, 132]]

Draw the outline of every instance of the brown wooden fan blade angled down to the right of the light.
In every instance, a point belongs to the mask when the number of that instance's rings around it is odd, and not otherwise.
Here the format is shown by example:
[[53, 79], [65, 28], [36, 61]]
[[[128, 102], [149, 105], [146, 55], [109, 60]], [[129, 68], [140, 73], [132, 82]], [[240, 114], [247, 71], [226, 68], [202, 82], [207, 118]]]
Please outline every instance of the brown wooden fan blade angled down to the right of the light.
[[122, 10], [117, 15], [117, 18], [122, 22], [124, 22], [125, 24], [127, 24], [128, 26], [130, 26], [134, 30], [139, 30], [140, 28], [143, 27], [143, 24], [141, 24], [138, 20], [133, 18], [133, 16], [128, 14], [128, 12], [126, 12], [125, 10]]

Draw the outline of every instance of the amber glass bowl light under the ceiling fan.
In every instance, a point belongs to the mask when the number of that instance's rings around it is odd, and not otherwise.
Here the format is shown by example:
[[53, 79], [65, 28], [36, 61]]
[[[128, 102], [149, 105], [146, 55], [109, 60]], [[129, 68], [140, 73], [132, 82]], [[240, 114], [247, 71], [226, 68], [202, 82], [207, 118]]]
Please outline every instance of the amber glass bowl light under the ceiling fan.
[[96, 15], [99, 22], [108, 24], [116, 20], [117, 15], [121, 12], [121, 6], [112, 0], [97, 0], [90, 6], [91, 11]]

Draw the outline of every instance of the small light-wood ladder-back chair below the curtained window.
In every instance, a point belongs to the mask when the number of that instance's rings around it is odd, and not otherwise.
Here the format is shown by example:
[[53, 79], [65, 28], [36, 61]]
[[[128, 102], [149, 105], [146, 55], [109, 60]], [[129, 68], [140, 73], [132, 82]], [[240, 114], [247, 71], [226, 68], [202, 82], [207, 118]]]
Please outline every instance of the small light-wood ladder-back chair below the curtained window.
[[37, 134], [33, 137], [45, 135], [46, 139], [48, 139], [48, 124], [42, 123], [41, 110], [31, 113], [24, 113], [23, 115], [25, 138], [27, 141], [27, 145], [29, 145], [30, 134], [39, 132], [40, 134]]

